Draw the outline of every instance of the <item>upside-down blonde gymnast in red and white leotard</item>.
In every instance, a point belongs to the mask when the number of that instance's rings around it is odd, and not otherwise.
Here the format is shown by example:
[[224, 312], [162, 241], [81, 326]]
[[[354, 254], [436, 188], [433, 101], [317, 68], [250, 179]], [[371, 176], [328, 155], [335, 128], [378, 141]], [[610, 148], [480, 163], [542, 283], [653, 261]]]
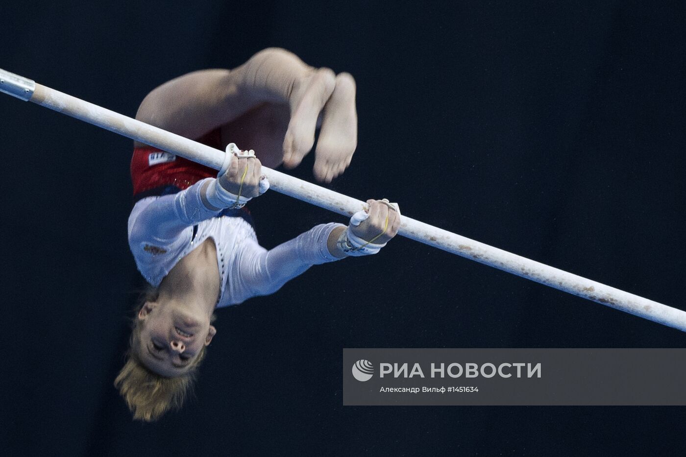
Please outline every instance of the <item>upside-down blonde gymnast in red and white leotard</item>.
[[272, 294], [310, 266], [375, 254], [396, 235], [400, 215], [388, 200], [367, 200], [348, 226], [320, 224], [272, 250], [257, 244], [243, 206], [269, 187], [262, 163], [296, 167], [320, 128], [314, 176], [329, 183], [357, 145], [352, 76], [309, 67], [283, 49], [166, 82], [143, 99], [137, 119], [230, 154], [217, 175], [134, 144], [129, 246], [151, 287], [115, 386], [134, 419], [154, 421], [182, 405], [217, 332], [216, 307]]

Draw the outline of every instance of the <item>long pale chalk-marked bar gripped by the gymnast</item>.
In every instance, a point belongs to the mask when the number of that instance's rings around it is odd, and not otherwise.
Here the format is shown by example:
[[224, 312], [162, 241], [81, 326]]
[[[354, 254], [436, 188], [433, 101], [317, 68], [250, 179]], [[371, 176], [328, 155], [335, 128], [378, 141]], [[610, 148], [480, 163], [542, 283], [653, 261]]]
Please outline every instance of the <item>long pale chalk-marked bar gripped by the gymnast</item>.
[[[221, 169], [224, 151], [196, 143], [180, 135], [150, 126], [136, 119], [120, 115], [106, 108], [84, 102], [49, 87], [36, 84], [14, 73], [0, 69], [0, 91], [106, 128], [130, 139], [177, 154], [213, 169]], [[318, 185], [262, 167], [271, 189], [303, 200], [335, 213], [351, 216], [366, 207], [366, 203]], [[543, 263], [526, 259], [505, 250], [494, 248], [451, 233], [438, 227], [402, 216], [399, 234], [418, 242], [434, 246], [449, 253], [472, 259], [488, 266], [517, 274], [552, 288], [602, 303], [630, 314], [652, 320], [681, 331], [686, 331], [686, 312], [657, 303], [608, 285], [585, 279]]]

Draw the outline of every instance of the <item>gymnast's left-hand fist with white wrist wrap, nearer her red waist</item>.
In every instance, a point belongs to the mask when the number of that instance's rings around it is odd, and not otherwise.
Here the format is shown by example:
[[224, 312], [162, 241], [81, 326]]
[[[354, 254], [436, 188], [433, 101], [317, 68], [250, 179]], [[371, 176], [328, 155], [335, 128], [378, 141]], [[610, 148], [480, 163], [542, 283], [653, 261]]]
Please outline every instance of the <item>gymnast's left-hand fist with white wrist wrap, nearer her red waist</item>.
[[[231, 152], [227, 150], [226, 154]], [[251, 156], [233, 154], [226, 171], [210, 183], [206, 199], [215, 208], [241, 208], [267, 189], [269, 181], [262, 174], [262, 164], [254, 152]]]

